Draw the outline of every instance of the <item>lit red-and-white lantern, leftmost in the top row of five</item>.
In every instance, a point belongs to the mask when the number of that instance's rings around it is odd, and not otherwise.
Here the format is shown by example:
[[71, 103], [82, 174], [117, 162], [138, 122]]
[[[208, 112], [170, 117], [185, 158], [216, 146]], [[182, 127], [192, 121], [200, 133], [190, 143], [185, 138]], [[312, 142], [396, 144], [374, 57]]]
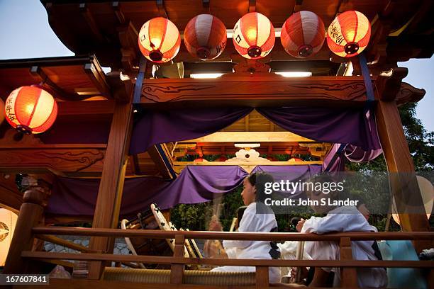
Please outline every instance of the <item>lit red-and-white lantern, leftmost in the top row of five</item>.
[[177, 56], [181, 35], [172, 21], [157, 17], [140, 28], [138, 43], [140, 51], [148, 60], [165, 63]]

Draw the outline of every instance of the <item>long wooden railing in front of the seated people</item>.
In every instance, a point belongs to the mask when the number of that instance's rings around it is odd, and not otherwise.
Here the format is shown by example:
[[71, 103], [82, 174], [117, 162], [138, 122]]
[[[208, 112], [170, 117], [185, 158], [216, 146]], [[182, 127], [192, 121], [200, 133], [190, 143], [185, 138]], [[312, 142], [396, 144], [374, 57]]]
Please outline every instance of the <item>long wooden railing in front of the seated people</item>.
[[[184, 265], [214, 266], [255, 266], [256, 288], [267, 288], [269, 283], [268, 268], [282, 266], [340, 267], [343, 270], [341, 285], [345, 288], [357, 288], [356, 268], [359, 267], [401, 267], [434, 268], [434, 261], [357, 261], [352, 260], [351, 242], [361, 240], [433, 240], [434, 232], [345, 232], [333, 234], [301, 233], [251, 233], [251, 232], [194, 232], [160, 230], [123, 230], [123, 229], [87, 229], [71, 227], [33, 227], [32, 234], [40, 239], [52, 239], [52, 235], [73, 235], [93, 237], [148, 237], [152, 239], [175, 239], [174, 256], [133, 256], [94, 253], [85, 250], [81, 254], [50, 253], [43, 251], [22, 251], [23, 259], [38, 260], [84, 260], [141, 262], [171, 265], [172, 284], [182, 284]], [[256, 241], [334, 241], [340, 244], [340, 260], [265, 260], [265, 259], [192, 259], [184, 258], [185, 239], [227, 239]], [[205, 286], [204, 286], [205, 288]]]

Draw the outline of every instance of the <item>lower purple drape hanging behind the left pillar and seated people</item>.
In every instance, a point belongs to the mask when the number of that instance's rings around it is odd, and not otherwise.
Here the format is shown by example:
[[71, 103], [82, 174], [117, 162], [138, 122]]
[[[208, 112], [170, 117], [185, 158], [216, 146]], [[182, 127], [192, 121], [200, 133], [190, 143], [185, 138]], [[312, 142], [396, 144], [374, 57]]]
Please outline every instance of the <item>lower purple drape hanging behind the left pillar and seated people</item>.
[[[282, 174], [292, 180], [321, 171], [320, 165], [258, 166], [255, 171]], [[174, 181], [157, 177], [126, 179], [121, 216], [130, 217], [157, 203], [173, 208], [179, 203], [204, 203], [230, 193], [243, 183], [247, 172], [240, 166], [187, 166]], [[58, 177], [53, 185], [46, 212], [52, 215], [94, 215], [99, 179]]]

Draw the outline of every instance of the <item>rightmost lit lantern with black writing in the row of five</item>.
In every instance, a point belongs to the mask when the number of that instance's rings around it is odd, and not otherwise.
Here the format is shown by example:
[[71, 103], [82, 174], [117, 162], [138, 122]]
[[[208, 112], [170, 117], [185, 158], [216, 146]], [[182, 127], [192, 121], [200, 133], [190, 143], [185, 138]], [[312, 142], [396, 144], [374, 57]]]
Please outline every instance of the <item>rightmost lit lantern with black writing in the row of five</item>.
[[371, 37], [371, 23], [359, 11], [340, 13], [328, 26], [327, 44], [340, 57], [360, 54]]

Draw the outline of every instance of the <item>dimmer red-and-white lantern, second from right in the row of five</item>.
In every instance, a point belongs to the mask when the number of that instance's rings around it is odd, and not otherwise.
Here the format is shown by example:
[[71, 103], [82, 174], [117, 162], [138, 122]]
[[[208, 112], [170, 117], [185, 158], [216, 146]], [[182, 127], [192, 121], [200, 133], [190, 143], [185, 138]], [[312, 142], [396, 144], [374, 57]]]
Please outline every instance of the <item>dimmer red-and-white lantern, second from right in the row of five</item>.
[[323, 46], [324, 23], [311, 11], [300, 11], [286, 19], [280, 41], [284, 50], [297, 58], [315, 55]]

